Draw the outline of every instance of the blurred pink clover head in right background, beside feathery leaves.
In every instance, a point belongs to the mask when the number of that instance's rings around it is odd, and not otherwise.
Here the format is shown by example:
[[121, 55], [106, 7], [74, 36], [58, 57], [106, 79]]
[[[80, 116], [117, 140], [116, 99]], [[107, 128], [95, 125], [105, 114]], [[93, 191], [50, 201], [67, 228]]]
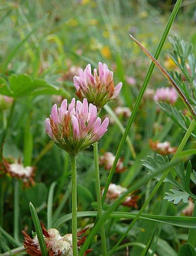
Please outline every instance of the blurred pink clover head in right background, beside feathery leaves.
[[174, 88], [161, 87], [157, 89], [154, 100], [155, 101], [164, 101], [170, 104], [174, 104], [178, 99], [178, 94]]

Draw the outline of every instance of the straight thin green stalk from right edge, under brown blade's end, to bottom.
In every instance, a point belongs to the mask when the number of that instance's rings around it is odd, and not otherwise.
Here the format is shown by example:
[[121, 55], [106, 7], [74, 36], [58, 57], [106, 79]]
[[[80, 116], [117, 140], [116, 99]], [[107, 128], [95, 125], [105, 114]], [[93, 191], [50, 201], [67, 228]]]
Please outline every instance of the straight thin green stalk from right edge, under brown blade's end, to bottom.
[[[185, 133], [174, 157], [171, 159], [171, 162], [173, 162], [180, 154], [180, 152], [183, 150], [183, 147], [185, 146], [188, 138], [190, 137], [193, 129], [195, 126], [195, 121], [192, 120], [191, 124], [188, 127], [187, 132]], [[152, 198], [155, 196], [157, 190], [159, 189], [159, 187], [162, 185], [164, 179], [166, 178], [166, 176], [168, 175], [168, 173], [170, 172], [171, 168], [168, 168], [164, 174], [162, 175], [161, 179], [157, 182], [156, 186], [154, 187], [153, 191], [151, 192], [149, 198], [145, 201], [145, 203], [142, 205], [141, 209], [139, 210], [137, 217], [132, 221], [131, 225], [128, 227], [128, 229], [126, 230], [126, 232], [122, 235], [122, 237], [118, 240], [118, 242], [116, 243], [116, 245], [112, 248], [112, 250], [109, 252], [109, 255], [112, 255], [112, 253], [115, 251], [115, 249], [118, 247], [118, 245], [122, 242], [122, 240], [124, 240], [124, 238], [127, 236], [128, 232], [131, 230], [131, 228], [135, 225], [136, 221], [139, 219], [139, 217], [141, 216], [142, 212], [145, 210], [145, 207], [150, 203], [150, 201], [152, 200]]]

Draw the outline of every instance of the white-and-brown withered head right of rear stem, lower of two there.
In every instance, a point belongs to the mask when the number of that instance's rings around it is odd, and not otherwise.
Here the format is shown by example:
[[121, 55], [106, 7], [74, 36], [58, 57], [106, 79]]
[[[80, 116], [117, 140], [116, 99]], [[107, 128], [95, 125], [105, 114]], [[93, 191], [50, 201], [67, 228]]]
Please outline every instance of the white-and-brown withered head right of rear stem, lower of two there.
[[[104, 191], [104, 190], [103, 190]], [[108, 191], [106, 194], [106, 202], [111, 203], [118, 197], [120, 197], [122, 194], [124, 194], [127, 191], [126, 187], [122, 187], [120, 185], [116, 185], [114, 183], [110, 183], [108, 187]], [[137, 206], [137, 200], [138, 196], [131, 197], [127, 196], [127, 198], [122, 202], [122, 205], [138, 208]]]

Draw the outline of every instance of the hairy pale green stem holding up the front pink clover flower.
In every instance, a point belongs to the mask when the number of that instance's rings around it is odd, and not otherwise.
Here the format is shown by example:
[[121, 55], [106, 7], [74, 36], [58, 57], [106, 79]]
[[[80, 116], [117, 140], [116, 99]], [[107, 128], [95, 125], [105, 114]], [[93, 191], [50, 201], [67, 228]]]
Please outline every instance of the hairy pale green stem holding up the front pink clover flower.
[[78, 255], [77, 246], [77, 168], [76, 155], [70, 154], [71, 159], [71, 207], [72, 207], [72, 248], [73, 255]]

